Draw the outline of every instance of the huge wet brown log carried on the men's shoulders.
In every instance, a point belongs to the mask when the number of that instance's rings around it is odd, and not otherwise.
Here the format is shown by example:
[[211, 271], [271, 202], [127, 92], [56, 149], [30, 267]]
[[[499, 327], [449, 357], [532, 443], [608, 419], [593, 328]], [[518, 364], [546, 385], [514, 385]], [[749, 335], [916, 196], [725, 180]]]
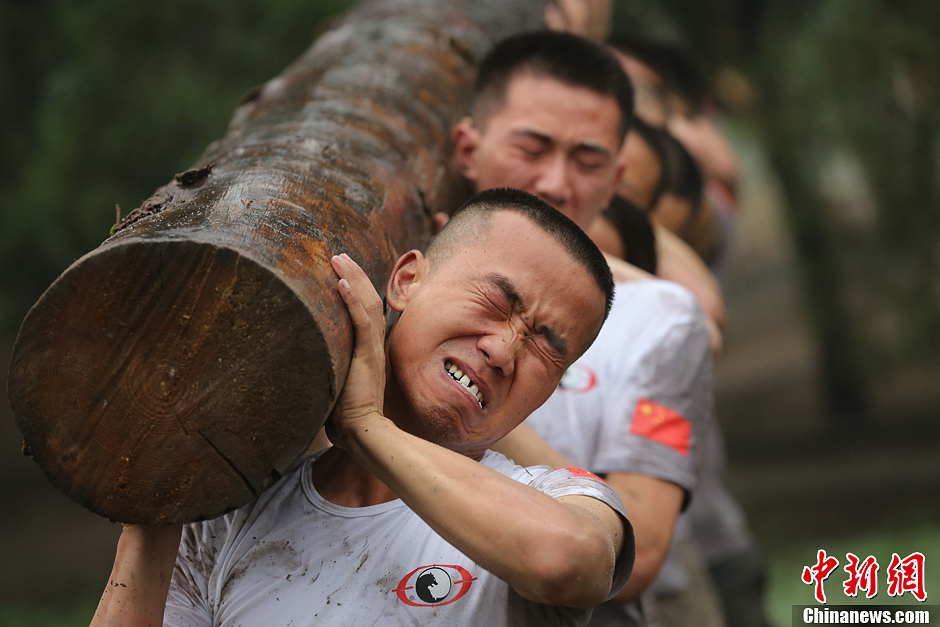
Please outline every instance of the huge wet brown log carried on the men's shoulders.
[[474, 64], [531, 0], [360, 6], [253, 92], [27, 314], [25, 446], [92, 511], [164, 524], [269, 486], [328, 416], [351, 351], [331, 255], [384, 285], [430, 236]]

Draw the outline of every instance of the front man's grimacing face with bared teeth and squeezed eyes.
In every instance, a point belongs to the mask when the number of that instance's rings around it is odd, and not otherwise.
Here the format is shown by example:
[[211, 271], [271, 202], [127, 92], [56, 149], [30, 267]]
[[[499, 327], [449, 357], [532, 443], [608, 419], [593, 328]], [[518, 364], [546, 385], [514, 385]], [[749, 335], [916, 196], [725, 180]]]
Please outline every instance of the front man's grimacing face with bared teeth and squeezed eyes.
[[604, 316], [603, 292], [562, 244], [518, 213], [488, 220], [433, 267], [403, 255], [387, 290], [400, 312], [388, 338], [389, 416], [472, 457], [551, 395]]

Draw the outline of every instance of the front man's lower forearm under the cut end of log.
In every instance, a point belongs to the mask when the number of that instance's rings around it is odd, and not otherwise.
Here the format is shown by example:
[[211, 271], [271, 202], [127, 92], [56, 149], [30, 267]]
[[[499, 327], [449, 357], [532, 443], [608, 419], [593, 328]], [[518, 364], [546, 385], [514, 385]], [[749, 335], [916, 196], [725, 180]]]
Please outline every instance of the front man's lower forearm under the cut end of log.
[[92, 627], [163, 624], [181, 527], [126, 526]]

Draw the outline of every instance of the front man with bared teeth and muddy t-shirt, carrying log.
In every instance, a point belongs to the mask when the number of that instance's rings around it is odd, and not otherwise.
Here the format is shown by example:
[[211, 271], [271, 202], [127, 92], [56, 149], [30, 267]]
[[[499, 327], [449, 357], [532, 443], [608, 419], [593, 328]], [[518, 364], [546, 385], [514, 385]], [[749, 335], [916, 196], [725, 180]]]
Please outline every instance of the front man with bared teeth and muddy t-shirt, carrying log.
[[601, 253], [538, 199], [484, 192], [396, 263], [387, 338], [366, 275], [332, 265], [356, 334], [334, 446], [182, 541], [126, 526], [92, 624], [585, 624], [633, 563], [616, 494], [488, 447], [597, 335]]

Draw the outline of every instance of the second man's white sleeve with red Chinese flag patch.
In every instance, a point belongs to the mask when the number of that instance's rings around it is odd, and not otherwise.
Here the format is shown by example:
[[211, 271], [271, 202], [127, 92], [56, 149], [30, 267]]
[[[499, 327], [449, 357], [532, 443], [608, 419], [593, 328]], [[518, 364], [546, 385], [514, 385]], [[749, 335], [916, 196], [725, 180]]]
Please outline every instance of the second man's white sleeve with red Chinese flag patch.
[[[678, 298], [673, 295], [668, 315], [660, 318], [658, 336], [644, 338], [647, 348], [620, 389], [610, 390], [592, 470], [670, 481], [685, 492], [685, 507], [701, 463], [705, 424], [713, 419], [713, 392], [704, 314], [690, 295]], [[671, 323], [663, 325], [664, 319]]]

